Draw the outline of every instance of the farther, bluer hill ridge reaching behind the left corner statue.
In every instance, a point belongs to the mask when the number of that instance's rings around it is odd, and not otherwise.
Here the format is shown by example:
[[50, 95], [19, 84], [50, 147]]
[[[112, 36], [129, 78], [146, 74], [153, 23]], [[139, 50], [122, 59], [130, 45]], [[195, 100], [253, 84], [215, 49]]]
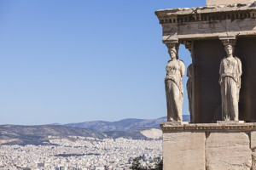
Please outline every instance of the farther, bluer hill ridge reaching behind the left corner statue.
[[[190, 116], [183, 115], [183, 121], [189, 122]], [[65, 124], [67, 127], [84, 127], [100, 132], [128, 131], [136, 127], [160, 127], [160, 122], [166, 122], [167, 117], [158, 119], [123, 119], [117, 122], [92, 121]]]

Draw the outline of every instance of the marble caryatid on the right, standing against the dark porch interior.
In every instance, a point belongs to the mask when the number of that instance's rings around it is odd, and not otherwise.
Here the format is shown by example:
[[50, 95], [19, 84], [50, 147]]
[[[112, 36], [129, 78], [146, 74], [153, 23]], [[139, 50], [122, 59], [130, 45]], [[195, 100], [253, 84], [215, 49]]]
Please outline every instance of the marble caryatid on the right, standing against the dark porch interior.
[[227, 57], [221, 60], [219, 67], [219, 85], [221, 87], [222, 119], [238, 120], [238, 101], [241, 88], [241, 60], [233, 56], [233, 46], [225, 45]]

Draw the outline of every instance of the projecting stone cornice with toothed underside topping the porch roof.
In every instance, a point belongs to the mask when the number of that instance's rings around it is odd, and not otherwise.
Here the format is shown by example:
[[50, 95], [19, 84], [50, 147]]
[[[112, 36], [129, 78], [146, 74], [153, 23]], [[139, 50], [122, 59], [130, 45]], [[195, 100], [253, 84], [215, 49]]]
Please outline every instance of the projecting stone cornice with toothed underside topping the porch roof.
[[155, 14], [160, 20], [160, 24], [163, 25], [218, 20], [245, 20], [256, 18], [256, 5], [249, 3], [199, 8], [161, 9], [156, 11]]

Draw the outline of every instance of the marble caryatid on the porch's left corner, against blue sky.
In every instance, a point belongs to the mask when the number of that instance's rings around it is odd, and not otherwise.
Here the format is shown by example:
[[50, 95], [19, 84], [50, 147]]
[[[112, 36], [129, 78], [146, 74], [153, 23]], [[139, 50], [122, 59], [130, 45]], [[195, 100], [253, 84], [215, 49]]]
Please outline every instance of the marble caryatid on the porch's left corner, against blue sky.
[[167, 121], [182, 122], [183, 84], [182, 77], [185, 73], [185, 65], [182, 60], [177, 59], [177, 50], [169, 48], [168, 53], [171, 60], [166, 65], [166, 104]]

